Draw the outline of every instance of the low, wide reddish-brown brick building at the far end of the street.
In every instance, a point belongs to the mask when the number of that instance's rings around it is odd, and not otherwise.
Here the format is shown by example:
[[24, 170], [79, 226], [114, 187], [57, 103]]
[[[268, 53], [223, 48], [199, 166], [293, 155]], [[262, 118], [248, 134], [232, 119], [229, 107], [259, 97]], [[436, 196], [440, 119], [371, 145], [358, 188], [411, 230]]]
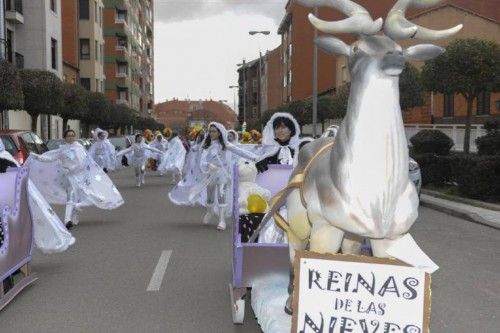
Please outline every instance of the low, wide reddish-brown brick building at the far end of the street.
[[214, 100], [171, 100], [155, 105], [154, 118], [180, 134], [197, 125], [207, 126], [217, 121], [226, 128], [233, 128], [237, 122], [236, 113], [223, 102]]

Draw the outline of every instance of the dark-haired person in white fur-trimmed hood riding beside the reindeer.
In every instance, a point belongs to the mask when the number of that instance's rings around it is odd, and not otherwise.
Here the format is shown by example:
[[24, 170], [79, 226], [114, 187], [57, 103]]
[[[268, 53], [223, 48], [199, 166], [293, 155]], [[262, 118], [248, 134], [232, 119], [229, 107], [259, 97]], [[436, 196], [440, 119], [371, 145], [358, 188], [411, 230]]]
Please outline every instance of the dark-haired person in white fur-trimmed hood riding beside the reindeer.
[[286, 112], [273, 114], [262, 133], [262, 145], [256, 152], [261, 156], [257, 170], [264, 172], [268, 164], [296, 165], [301, 145], [300, 126]]

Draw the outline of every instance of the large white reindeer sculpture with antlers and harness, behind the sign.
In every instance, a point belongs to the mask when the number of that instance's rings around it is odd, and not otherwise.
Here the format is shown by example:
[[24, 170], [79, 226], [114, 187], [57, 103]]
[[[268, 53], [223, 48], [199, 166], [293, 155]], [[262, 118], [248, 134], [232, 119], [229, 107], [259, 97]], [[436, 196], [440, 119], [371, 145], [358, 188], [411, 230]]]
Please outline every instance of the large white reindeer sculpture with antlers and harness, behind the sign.
[[[434, 40], [449, 37], [462, 25], [430, 30], [405, 19], [409, 5], [429, 7], [439, 0], [399, 0], [390, 10], [383, 34], [382, 19], [373, 20], [366, 9], [350, 0], [296, 0], [308, 7], [328, 6], [348, 18], [326, 22], [309, 14], [325, 33], [356, 33], [346, 45], [321, 36], [315, 42], [329, 53], [348, 57], [351, 90], [347, 114], [332, 143], [319, 139], [300, 151], [289, 186], [277, 197], [272, 212], [286, 200], [285, 222], [290, 257], [309, 249], [319, 253], [356, 254], [368, 238], [373, 255], [386, 250], [413, 225], [418, 196], [408, 177], [408, 147], [399, 105], [399, 74], [405, 60], [428, 60], [444, 52], [432, 44], [402, 49], [395, 41], [406, 38]], [[293, 270], [292, 270], [293, 271]], [[293, 283], [292, 281], [290, 282]], [[285, 310], [291, 313], [291, 295]]]

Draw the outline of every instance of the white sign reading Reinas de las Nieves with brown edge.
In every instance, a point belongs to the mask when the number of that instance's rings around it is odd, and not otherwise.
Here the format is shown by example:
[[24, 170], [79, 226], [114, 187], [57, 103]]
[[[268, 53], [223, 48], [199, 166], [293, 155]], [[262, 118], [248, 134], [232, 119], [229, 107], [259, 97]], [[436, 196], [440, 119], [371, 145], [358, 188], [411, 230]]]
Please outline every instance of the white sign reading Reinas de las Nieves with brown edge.
[[299, 252], [297, 333], [427, 333], [430, 275], [399, 260]]

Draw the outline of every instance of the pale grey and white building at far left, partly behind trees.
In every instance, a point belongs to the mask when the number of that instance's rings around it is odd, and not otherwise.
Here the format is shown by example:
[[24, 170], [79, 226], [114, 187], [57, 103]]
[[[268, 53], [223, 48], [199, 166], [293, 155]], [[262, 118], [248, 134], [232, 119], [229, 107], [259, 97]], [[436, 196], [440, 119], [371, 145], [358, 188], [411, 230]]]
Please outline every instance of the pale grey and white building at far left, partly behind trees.
[[[4, 0], [7, 35], [6, 58], [18, 68], [42, 69], [63, 78], [61, 0]], [[3, 126], [30, 129], [31, 117], [24, 111], [4, 112]], [[78, 123], [71, 122], [79, 129]], [[62, 136], [62, 119], [41, 115], [37, 134], [42, 139]]]

